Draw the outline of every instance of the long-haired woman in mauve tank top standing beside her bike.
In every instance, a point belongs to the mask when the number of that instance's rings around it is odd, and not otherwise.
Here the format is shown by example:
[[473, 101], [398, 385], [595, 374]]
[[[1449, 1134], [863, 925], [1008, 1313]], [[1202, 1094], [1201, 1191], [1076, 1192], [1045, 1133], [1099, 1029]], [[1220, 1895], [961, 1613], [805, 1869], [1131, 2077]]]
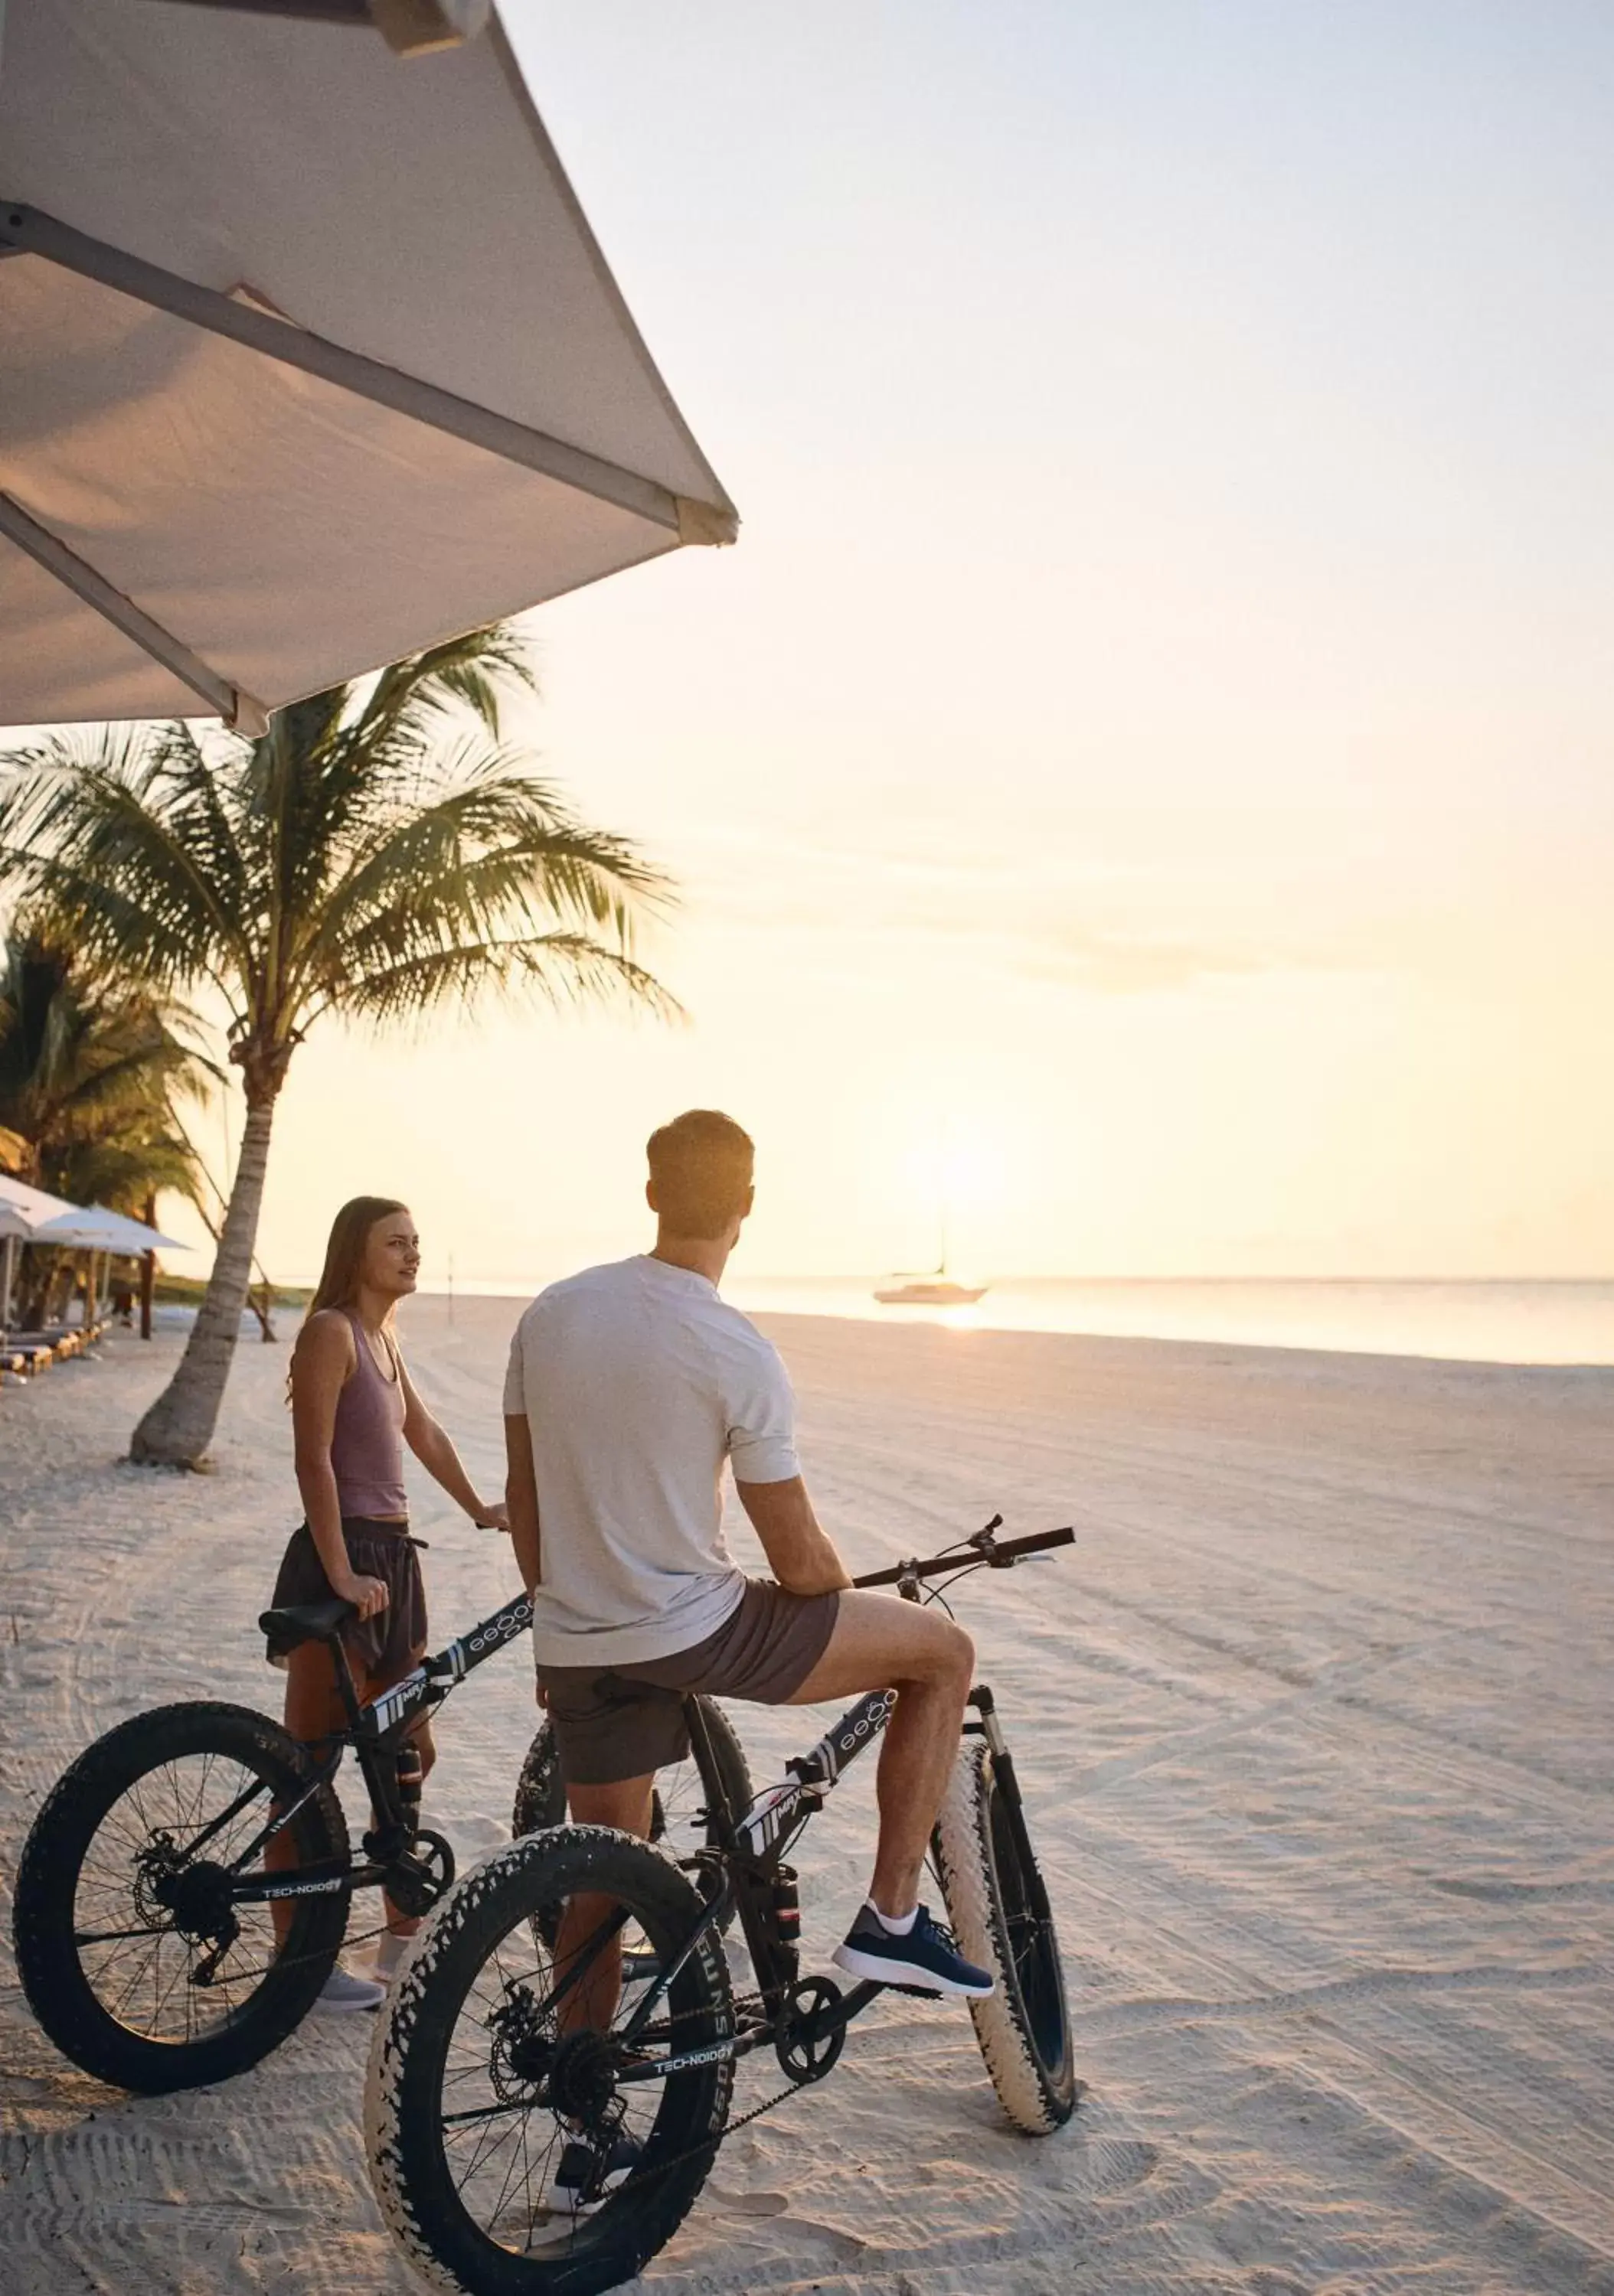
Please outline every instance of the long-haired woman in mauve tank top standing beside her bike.
[[[292, 1534], [280, 1561], [273, 1603], [319, 1603], [340, 1596], [358, 1616], [342, 1635], [358, 1697], [399, 1683], [427, 1646], [427, 1605], [420, 1584], [420, 1541], [409, 1536], [404, 1444], [471, 1520], [507, 1529], [501, 1504], [482, 1502], [459, 1465], [459, 1453], [416, 1394], [397, 1352], [393, 1320], [420, 1274], [420, 1238], [406, 1205], [388, 1196], [354, 1196], [335, 1215], [326, 1267], [292, 1350], [292, 1435], [296, 1483], [308, 1520]], [[319, 1743], [344, 1724], [331, 1651], [303, 1642], [289, 1653], [269, 1651], [287, 1669], [285, 1724], [294, 1738]], [[399, 1752], [399, 1786], [411, 1800], [436, 1759], [432, 1724], [422, 1715]], [[280, 1853], [276, 1857], [276, 1853]], [[294, 1844], [271, 1844], [271, 1864], [294, 1860]], [[280, 1906], [276, 1906], [280, 1915]], [[326, 2009], [374, 2009], [397, 1968], [404, 1940], [420, 1926], [386, 1901], [386, 1936], [377, 1979], [335, 1968], [319, 1995]], [[276, 1922], [285, 1931], [287, 1922]]]

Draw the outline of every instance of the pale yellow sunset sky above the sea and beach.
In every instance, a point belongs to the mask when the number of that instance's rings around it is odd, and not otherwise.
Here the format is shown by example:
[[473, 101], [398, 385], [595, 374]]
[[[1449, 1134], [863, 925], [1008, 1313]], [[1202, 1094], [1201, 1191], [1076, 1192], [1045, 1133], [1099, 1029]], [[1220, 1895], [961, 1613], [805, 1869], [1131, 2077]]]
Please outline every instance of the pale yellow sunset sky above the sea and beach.
[[719, 1104], [758, 1274], [1614, 1272], [1614, 11], [505, 18], [742, 512], [530, 618], [689, 1019], [326, 1026], [264, 1263], [638, 1249]]

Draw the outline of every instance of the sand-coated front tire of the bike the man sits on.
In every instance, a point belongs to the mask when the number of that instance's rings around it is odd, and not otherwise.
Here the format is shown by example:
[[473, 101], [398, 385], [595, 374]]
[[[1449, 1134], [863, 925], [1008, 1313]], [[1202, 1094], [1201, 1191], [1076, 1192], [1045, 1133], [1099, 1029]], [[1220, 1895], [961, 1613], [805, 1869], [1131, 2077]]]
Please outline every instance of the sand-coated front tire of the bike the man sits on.
[[994, 1798], [992, 1750], [983, 1738], [967, 1738], [937, 1816], [941, 1894], [960, 1952], [992, 1970], [996, 1979], [996, 1991], [987, 2000], [969, 2004], [992, 2087], [1010, 2122], [1026, 2135], [1042, 2138], [1077, 2110], [1065, 1977], [1049, 1931], [1045, 1938], [1049, 1963], [1042, 1977], [1058, 2009], [1061, 2043], [1045, 2055], [1019, 1991], [1010, 1947], [1006, 1883], [1012, 1887], [1017, 1876], [1001, 1876], [999, 1857], [1015, 1857], [1015, 1846], [1001, 1825], [992, 1825]]

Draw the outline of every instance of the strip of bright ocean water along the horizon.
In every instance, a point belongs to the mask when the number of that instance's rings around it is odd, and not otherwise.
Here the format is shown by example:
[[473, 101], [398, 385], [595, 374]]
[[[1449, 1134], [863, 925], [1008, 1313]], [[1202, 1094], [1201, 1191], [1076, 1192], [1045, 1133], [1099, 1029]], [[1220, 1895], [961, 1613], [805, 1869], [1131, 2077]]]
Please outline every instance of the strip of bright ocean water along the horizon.
[[1614, 1283], [1006, 1279], [967, 1309], [879, 1306], [872, 1279], [735, 1274], [748, 1313], [941, 1322], [960, 1332], [1095, 1332], [1242, 1348], [1426, 1355], [1472, 1364], [1614, 1364]]

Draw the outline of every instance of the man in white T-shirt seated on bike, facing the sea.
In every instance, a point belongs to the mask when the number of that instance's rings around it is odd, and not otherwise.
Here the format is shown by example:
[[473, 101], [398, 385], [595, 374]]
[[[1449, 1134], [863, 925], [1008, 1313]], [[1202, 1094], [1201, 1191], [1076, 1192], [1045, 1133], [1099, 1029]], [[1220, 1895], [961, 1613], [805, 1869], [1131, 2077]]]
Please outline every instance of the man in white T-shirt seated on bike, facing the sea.
[[[691, 1109], [647, 1153], [654, 1251], [540, 1293], [505, 1382], [510, 1531], [572, 1818], [650, 1832], [654, 1773], [689, 1745], [684, 1692], [810, 1706], [895, 1690], [868, 1903], [833, 1958], [978, 2000], [992, 1977], [918, 1903], [973, 1644], [934, 1609], [852, 1591], [817, 1525], [785, 1366], [716, 1293], [753, 1203], [751, 1139]], [[776, 1584], [728, 1552], [723, 1460]], [[604, 1910], [574, 1901], [560, 1949]], [[608, 2020], [615, 1988], [602, 1968], [590, 2023]]]

